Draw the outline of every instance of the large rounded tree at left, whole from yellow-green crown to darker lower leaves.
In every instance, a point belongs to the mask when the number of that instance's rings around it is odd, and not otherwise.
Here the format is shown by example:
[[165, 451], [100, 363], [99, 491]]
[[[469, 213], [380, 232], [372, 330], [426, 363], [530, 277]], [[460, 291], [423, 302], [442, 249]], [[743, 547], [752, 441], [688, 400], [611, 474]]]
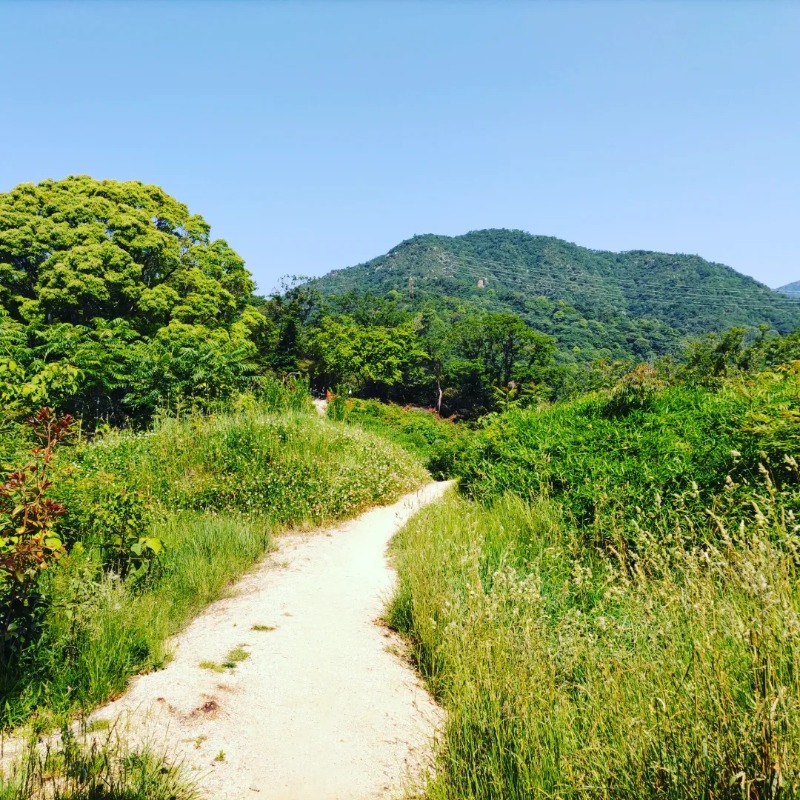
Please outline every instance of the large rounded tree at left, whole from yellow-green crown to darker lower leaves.
[[4, 394], [114, 422], [177, 394], [218, 397], [270, 338], [253, 288], [243, 259], [158, 186], [17, 186], [0, 194]]

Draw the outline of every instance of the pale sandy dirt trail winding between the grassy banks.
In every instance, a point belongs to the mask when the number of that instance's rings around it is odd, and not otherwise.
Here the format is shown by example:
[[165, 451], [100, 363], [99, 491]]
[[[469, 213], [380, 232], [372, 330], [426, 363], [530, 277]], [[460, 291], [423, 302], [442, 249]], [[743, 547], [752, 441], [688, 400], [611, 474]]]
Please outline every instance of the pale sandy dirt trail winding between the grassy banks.
[[[325, 532], [280, 537], [233, 596], [176, 638], [166, 669], [137, 678], [93, 719], [166, 744], [215, 800], [402, 795], [429, 765], [441, 718], [396, 654], [399, 639], [376, 623], [394, 580], [386, 546], [447, 485]], [[238, 646], [249, 658], [234, 669], [199, 666]]]

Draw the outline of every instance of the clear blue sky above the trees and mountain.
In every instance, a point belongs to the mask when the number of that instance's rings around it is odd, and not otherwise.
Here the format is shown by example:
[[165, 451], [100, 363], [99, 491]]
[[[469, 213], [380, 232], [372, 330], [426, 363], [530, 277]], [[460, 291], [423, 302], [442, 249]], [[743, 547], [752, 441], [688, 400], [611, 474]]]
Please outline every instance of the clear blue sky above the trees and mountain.
[[522, 228], [800, 279], [800, 2], [0, 0], [0, 191], [162, 185], [262, 291]]

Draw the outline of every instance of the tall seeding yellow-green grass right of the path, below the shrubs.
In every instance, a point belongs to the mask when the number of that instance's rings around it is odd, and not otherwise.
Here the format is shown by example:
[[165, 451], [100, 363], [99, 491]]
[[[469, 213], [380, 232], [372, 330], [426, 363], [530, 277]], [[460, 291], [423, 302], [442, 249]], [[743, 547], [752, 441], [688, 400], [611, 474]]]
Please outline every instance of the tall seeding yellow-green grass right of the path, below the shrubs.
[[763, 510], [633, 562], [547, 501], [414, 518], [391, 619], [448, 712], [428, 797], [796, 796], [800, 539]]

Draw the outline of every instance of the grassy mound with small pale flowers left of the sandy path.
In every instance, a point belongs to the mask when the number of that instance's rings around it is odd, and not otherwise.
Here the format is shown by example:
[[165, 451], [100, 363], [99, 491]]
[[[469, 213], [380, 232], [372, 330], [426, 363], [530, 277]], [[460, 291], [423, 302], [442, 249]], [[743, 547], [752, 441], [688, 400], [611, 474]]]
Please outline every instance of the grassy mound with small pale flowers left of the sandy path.
[[[282, 405], [60, 450], [52, 494], [68, 508], [69, 555], [43, 574], [35, 638], [0, 675], [0, 727], [48, 727], [164, 664], [168, 637], [224, 594], [276, 530], [354, 516], [425, 480], [417, 458], [317, 418], [307, 397]], [[132, 553], [141, 536], [163, 543], [157, 560]]]

